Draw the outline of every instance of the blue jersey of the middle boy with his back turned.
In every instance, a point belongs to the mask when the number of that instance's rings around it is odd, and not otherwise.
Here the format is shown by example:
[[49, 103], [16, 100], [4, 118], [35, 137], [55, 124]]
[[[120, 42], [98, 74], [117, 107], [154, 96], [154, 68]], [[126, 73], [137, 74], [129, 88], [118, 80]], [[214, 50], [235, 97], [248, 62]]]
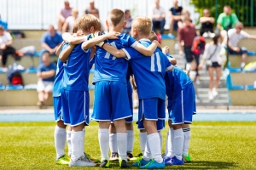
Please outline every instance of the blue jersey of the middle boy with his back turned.
[[[119, 39], [106, 40], [115, 48], [136, 47], [137, 41], [128, 34], [121, 34]], [[95, 72], [93, 82], [119, 81], [126, 83], [126, 71], [128, 63], [126, 59], [116, 59], [105, 49], [96, 47]]]

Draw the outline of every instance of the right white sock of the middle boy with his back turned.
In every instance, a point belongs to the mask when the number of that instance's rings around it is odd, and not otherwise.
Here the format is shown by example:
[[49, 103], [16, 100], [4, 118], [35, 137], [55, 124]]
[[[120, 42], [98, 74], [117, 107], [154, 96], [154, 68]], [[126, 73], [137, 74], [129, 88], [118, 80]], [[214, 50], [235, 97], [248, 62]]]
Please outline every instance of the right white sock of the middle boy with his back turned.
[[127, 161], [127, 133], [116, 133], [116, 141], [118, 145], [120, 159], [124, 159], [125, 161]]

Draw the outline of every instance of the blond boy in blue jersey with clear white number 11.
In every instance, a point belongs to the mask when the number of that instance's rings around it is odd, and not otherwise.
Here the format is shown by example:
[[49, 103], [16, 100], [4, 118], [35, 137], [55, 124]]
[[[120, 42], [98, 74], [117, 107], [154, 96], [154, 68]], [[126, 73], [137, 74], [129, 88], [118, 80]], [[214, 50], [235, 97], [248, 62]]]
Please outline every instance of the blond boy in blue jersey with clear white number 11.
[[[143, 46], [148, 47], [151, 42], [148, 36], [151, 32], [152, 21], [147, 17], [138, 17], [131, 23], [131, 36], [135, 37]], [[105, 47], [103, 47], [105, 48]], [[106, 46], [106, 48], [108, 48]], [[105, 48], [105, 49], [106, 49]], [[113, 48], [111, 48], [113, 49]], [[133, 48], [122, 48], [131, 59], [131, 67], [137, 84], [139, 98], [139, 121], [147, 131], [148, 147], [151, 151], [150, 158], [143, 156], [137, 165], [143, 169], [164, 168], [165, 162], [161, 157], [160, 135], [157, 132], [157, 120], [166, 118], [165, 98], [166, 87], [164, 76], [166, 71], [172, 71], [172, 65], [160, 49], [156, 49], [151, 57], [138, 53]], [[111, 52], [111, 51], [109, 51]], [[122, 57], [121, 52], [111, 52], [116, 57]], [[131, 55], [132, 54], [132, 55]]]

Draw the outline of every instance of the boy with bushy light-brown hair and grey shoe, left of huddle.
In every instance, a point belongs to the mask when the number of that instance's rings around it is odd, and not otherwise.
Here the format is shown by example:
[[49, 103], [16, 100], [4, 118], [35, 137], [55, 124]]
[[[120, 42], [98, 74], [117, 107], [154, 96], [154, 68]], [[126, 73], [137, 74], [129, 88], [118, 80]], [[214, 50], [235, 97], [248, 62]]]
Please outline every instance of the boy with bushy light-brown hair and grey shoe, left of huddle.
[[[84, 35], [89, 35], [95, 31], [101, 30], [100, 21], [91, 14], [84, 14], [79, 19], [79, 30]], [[72, 53], [66, 60], [64, 54], [60, 55], [60, 59], [66, 62], [64, 65], [64, 74], [62, 81], [61, 102], [63, 111], [63, 121], [70, 124], [73, 128], [71, 133], [72, 156], [69, 163], [70, 167], [92, 167], [96, 164], [84, 156], [84, 125], [89, 124], [89, 93], [88, 93], [88, 77], [90, 68], [90, 47], [102, 42], [101, 37], [90, 39], [90, 35], [86, 37], [88, 41], [80, 42], [76, 45]], [[94, 44], [91, 44], [93, 41]], [[86, 50], [84, 50], [86, 49]], [[69, 47], [66, 49], [69, 50]], [[66, 52], [65, 50], [65, 52]]]

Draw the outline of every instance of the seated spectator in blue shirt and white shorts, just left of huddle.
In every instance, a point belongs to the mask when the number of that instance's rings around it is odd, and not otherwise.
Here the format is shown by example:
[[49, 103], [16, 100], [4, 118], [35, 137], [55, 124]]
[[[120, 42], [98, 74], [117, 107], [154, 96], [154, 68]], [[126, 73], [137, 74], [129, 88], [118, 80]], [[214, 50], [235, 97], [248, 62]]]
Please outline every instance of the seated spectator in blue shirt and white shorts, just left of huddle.
[[38, 65], [38, 106], [42, 109], [52, 93], [55, 81], [56, 65], [49, 58], [49, 53], [43, 54], [43, 63]]

